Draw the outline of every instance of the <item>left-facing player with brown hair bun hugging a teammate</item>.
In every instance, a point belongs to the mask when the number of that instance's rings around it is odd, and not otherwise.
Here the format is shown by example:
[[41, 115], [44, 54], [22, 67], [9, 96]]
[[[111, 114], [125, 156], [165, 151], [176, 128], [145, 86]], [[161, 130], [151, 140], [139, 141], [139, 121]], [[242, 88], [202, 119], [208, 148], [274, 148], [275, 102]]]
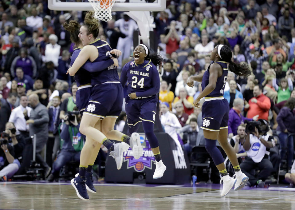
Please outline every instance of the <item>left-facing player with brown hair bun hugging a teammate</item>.
[[[110, 62], [116, 62], [116, 66], [118, 65], [117, 60], [111, 58], [111, 53], [119, 56], [121, 52], [119, 50], [112, 50], [107, 42], [96, 39], [98, 36], [99, 20], [93, 18], [92, 15], [92, 11], [86, 14], [84, 24], [80, 28], [79, 38], [84, 47], [69, 69], [70, 75], [78, 72], [88, 59], [94, 62], [108, 62], [106, 65], [109, 65]], [[110, 59], [112, 61], [109, 61]], [[90, 78], [93, 88], [87, 108], [83, 112], [80, 132], [89, 137], [89, 141], [86, 140], [81, 151], [79, 176], [71, 180], [71, 184], [76, 189], [78, 197], [82, 200], [89, 199], [85, 188], [85, 183], [87, 182], [85, 174], [87, 168], [89, 168], [89, 157], [97, 155], [94, 148], [98, 143], [103, 144], [109, 149], [110, 155], [116, 160], [117, 169], [120, 169], [122, 166], [123, 152], [129, 148], [129, 144], [133, 149], [133, 153], [140, 151], [141, 145], [138, 133], [134, 133], [134, 135], [129, 137], [119, 131], [113, 130], [116, 118], [119, 116], [123, 104], [123, 88], [119, 81], [116, 66], [110, 65], [99, 72], [93, 72], [93, 69], [86, 69], [91, 71]], [[94, 128], [100, 118], [103, 119], [101, 122], [101, 132]], [[96, 127], [99, 126], [96, 125]], [[127, 145], [125, 144], [126, 147], [124, 147], [122, 143], [112, 144], [109, 139], [124, 141]], [[137, 146], [138, 144], [140, 147]]]

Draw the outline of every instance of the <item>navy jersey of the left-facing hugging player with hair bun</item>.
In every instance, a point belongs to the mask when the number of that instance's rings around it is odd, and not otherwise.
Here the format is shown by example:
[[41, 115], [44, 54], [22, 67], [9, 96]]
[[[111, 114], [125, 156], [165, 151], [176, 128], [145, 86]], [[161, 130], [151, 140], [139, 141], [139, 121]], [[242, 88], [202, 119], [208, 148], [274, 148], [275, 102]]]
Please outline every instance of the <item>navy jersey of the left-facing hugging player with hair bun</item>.
[[[108, 42], [96, 39], [91, 42], [89, 45], [93, 45], [97, 47], [98, 57], [93, 61], [108, 61], [110, 59], [111, 53], [110, 50], [112, 48], [109, 46]], [[104, 69], [100, 72], [90, 73], [91, 74], [91, 85], [94, 86], [96, 84], [102, 84], [108, 81], [120, 81], [119, 75], [117, 72], [117, 67], [114, 65], [110, 65], [108, 68]]]

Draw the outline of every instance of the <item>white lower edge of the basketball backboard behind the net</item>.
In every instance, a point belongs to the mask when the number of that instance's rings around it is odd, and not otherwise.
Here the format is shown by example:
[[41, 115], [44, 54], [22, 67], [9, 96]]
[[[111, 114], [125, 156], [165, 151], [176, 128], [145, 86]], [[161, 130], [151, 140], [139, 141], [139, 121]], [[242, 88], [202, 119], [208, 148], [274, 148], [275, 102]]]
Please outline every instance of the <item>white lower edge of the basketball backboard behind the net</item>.
[[[154, 2], [144, 0], [115, 0], [112, 11], [163, 11], [166, 9], [166, 0], [155, 0]], [[73, 0], [48, 0], [50, 10], [93, 10], [87, 0], [81, 2]]]

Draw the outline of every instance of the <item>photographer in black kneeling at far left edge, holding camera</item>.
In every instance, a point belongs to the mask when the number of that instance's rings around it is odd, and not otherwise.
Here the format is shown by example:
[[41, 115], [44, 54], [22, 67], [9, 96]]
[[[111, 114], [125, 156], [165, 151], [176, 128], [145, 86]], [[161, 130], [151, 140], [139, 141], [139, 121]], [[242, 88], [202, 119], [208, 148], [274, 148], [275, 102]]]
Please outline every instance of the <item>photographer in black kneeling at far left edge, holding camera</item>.
[[21, 141], [20, 135], [17, 137], [15, 133], [14, 124], [11, 122], [6, 123], [5, 131], [1, 133], [0, 137], [0, 181], [7, 181], [20, 167], [20, 162], [16, 158], [22, 155], [24, 143]]

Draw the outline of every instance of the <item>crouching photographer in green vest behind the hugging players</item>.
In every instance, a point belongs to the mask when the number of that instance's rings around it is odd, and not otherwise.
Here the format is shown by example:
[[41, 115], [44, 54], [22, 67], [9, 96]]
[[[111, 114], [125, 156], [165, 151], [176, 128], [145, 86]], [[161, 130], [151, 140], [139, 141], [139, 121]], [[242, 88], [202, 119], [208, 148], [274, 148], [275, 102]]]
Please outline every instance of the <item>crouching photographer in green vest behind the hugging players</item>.
[[61, 152], [57, 155], [57, 159], [53, 163], [52, 170], [48, 176], [48, 181], [53, 181], [58, 177], [60, 169], [70, 161], [80, 161], [81, 150], [84, 145], [85, 136], [80, 133], [81, 114], [77, 107], [72, 112], [67, 113], [68, 119], [65, 121], [60, 137]]

